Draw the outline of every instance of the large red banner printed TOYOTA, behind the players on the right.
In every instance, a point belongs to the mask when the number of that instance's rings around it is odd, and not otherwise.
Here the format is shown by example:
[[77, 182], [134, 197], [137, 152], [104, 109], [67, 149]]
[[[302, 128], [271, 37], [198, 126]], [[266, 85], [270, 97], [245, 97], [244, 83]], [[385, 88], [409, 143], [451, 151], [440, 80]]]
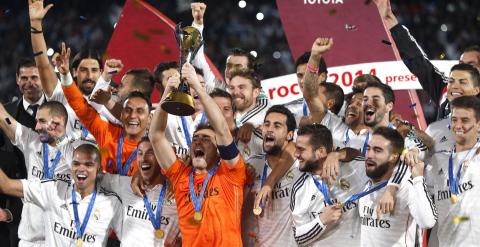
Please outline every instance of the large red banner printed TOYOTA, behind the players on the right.
[[[315, 38], [332, 37], [328, 66], [399, 60], [372, 1], [277, 0], [277, 7], [294, 58], [309, 51]], [[397, 90], [395, 96], [395, 111], [426, 128], [415, 91]]]

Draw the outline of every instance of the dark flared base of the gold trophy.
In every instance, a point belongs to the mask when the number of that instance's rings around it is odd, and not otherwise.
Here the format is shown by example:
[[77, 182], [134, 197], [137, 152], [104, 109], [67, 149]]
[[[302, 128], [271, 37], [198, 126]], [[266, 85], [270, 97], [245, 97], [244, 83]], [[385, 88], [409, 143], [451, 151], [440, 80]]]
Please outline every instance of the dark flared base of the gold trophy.
[[193, 97], [182, 92], [171, 92], [162, 103], [162, 109], [176, 116], [191, 116], [195, 113]]

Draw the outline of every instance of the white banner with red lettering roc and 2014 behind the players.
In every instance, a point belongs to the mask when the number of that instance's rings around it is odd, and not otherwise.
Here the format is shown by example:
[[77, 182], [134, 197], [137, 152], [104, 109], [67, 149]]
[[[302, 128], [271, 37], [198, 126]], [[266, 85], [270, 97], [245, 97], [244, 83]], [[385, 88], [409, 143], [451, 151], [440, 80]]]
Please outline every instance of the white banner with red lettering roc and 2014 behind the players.
[[[439, 71], [448, 75], [450, 68], [457, 64], [454, 60], [432, 60]], [[362, 74], [376, 75], [382, 82], [394, 90], [422, 89], [417, 77], [410, 73], [402, 61], [362, 63], [328, 68], [327, 82], [333, 82], [343, 88], [345, 93], [352, 91], [355, 77]], [[262, 81], [262, 88], [271, 100], [272, 105], [285, 104], [302, 98], [302, 92], [297, 83], [297, 75], [289, 74]]]

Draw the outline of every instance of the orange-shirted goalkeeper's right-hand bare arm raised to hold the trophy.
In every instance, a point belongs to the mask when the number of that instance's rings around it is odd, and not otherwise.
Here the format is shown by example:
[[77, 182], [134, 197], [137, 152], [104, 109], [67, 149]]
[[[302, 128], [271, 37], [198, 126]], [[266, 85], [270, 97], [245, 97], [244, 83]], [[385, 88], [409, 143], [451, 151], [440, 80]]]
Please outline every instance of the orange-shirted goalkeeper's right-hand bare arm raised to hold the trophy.
[[[200, 101], [203, 104], [205, 109], [205, 114], [215, 130], [217, 146], [229, 146], [233, 143], [233, 137], [228, 128], [227, 120], [222, 114], [218, 105], [213, 101], [213, 99], [208, 95], [205, 88], [202, 87], [200, 81], [198, 80], [195, 69], [189, 63], [185, 64], [182, 68], [182, 74], [190, 84], [190, 86], [197, 92]], [[225, 160], [228, 165], [235, 165], [239, 159], [239, 155], [233, 159]]]

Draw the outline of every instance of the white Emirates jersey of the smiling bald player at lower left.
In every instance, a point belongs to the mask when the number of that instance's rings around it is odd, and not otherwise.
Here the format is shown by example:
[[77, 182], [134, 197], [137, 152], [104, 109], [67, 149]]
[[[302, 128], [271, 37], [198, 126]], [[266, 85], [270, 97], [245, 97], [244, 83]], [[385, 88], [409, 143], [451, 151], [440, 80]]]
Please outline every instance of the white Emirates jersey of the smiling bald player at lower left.
[[[76, 246], [75, 216], [70, 183], [61, 180], [21, 180], [24, 200], [43, 211], [36, 221], [45, 225], [45, 246]], [[122, 204], [115, 193], [97, 188], [96, 200], [82, 236], [84, 247], [106, 246], [109, 229], [121, 237]], [[81, 199], [76, 193], [78, 215], [83, 222], [92, 195]]]

